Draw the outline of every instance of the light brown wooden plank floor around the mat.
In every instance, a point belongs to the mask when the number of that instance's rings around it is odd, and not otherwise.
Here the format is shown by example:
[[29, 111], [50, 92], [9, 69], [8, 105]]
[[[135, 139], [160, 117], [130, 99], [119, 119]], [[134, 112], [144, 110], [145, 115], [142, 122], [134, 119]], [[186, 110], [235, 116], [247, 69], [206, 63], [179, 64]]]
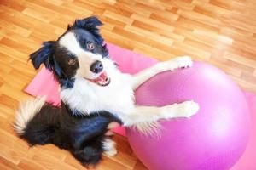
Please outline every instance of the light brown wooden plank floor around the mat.
[[[160, 60], [191, 55], [256, 92], [256, 1], [170, 2], [0, 0], [0, 169], [85, 169], [53, 145], [29, 148], [11, 127], [19, 101], [31, 98], [22, 91], [36, 74], [28, 54], [77, 18], [98, 15], [108, 42]], [[115, 140], [119, 155], [104, 157], [96, 169], [146, 169], [125, 138]]]

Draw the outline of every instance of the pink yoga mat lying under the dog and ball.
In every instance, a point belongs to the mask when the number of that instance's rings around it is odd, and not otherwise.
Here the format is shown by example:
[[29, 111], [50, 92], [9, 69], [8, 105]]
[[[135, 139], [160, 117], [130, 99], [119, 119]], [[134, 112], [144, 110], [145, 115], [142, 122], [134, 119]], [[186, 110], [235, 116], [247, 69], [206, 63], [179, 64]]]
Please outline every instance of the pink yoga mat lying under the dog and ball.
[[[125, 73], [134, 74], [157, 62], [155, 59], [148, 58], [141, 54], [135, 54], [132, 51], [119, 48], [110, 43], [108, 43], [108, 49], [112, 59], [119, 65], [120, 71]], [[38, 72], [38, 75], [34, 77], [25, 91], [33, 96], [46, 95], [48, 102], [54, 105], [60, 104], [58, 83], [55, 82], [53, 75], [45, 68]], [[256, 170], [256, 163], [253, 161], [256, 157], [256, 95], [247, 92], [245, 92], [245, 95], [252, 111], [253, 130], [247, 144], [247, 150], [232, 170]], [[119, 127], [114, 131], [125, 136], [125, 129], [123, 127]]]

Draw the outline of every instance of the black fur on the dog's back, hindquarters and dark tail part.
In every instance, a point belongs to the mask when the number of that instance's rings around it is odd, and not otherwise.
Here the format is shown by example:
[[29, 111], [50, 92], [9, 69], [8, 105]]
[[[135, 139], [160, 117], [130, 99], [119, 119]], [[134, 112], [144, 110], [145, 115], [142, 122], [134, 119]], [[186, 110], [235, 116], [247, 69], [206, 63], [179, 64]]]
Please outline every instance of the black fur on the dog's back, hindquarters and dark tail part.
[[73, 116], [67, 105], [61, 108], [45, 104], [27, 123], [20, 138], [31, 145], [55, 144], [69, 150], [84, 165], [96, 164], [102, 158], [102, 141], [110, 122], [120, 120], [107, 111], [88, 116]]

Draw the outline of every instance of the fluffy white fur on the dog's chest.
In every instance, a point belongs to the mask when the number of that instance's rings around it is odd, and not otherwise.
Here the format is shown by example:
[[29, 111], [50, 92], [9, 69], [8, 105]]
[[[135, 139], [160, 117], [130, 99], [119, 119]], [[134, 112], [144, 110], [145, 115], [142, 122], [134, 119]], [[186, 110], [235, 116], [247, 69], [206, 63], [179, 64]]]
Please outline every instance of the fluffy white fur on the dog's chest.
[[119, 116], [125, 115], [134, 108], [131, 75], [119, 72], [112, 63], [109, 63], [107, 72], [111, 78], [108, 86], [101, 87], [77, 77], [73, 88], [61, 90], [62, 101], [81, 114], [109, 111]]

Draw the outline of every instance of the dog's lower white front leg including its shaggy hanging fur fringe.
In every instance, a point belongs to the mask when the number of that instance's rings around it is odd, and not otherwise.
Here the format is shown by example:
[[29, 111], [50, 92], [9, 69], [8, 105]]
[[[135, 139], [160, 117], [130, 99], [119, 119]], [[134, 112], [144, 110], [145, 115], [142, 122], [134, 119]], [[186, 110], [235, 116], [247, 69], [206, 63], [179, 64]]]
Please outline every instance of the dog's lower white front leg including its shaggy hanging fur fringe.
[[137, 106], [123, 119], [124, 126], [136, 127], [138, 131], [146, 135], [160, 134], [160, 119], [186, 117], [195, 115], [199, 105], [193, 101], [185, 101], [180, 104], [166, 105], [163, 107]]

